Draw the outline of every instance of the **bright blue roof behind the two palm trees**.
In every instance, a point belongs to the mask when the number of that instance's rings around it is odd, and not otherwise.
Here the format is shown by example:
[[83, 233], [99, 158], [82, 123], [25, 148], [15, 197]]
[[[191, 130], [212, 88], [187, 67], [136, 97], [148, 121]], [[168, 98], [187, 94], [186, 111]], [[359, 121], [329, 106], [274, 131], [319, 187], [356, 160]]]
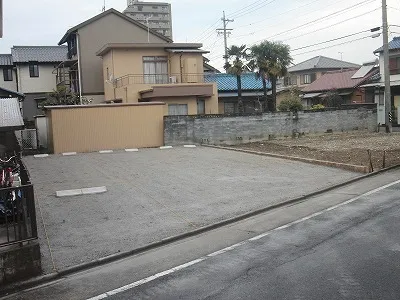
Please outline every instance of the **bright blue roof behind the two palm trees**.
[[[237, 79], [231, 74], [206, 74], [206, 82], [216, 82], [218, 91], [237, 91]], [[261, 78], [257, 78], [255, 73], [245, 73], [242, 77], [242, 91], [262, 90]], [[267, 88], [271, 88], [271, 83], [267, 81]]]

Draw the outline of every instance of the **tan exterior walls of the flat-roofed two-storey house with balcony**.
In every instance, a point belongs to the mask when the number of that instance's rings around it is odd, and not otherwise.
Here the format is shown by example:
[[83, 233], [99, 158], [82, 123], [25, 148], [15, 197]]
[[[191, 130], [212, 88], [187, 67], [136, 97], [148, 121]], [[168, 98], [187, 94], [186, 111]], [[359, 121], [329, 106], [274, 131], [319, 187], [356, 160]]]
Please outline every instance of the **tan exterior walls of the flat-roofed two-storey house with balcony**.
[[[175, 76], [177, 83], [171, 84], [145, 84], [143, 83], [143, 57], [144, 56], [166, 56], [168, 57], [168, 75]], [[194, 74], [193, 80], [198, 83], [180, 83], [181, 70], [183, 77], [185, 74]], [[164, 49], [113, 49], [103, 56], [103, 77], [107, 78], [107, 74], [114, 78], [120, 78], [125, 75], [133, 75], [129, 77], [124, 83], [124, 86], [114, 88], [111, 82], [104, 80], [104, 91], [105, 99], [115, 100], [122, 99], [123, 103], [137, 103], [139, 102], [141, 95], [140, 92], [150, 90], [153, 87], [177, 87], [182, 86], [204, 86], [203, 81], [203, 57], [200, 53], [183, 53], [174, 54], [168, 53]], [[212, 84], [212, 83], [207, 83]], [[218, 89], [216, 83], [212, 84], [213, 95], [206, 97], [206, 113], [217, 114], [218, 113]], [[153, 98], [151, 101], [165, 101], [169, 104], [188, 104], [188, 113], [197, 114], [197, 97], [186, 96], [186, 97], [162, 97]], [[164, 112], [168, 114], [168, 107], [165, 108]]]

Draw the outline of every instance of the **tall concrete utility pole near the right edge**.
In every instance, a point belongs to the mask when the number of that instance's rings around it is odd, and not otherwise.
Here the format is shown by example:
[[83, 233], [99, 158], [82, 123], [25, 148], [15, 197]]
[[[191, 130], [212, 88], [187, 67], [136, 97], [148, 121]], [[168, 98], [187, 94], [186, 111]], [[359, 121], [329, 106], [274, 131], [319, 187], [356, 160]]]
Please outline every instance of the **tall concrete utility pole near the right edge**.
[[392, 132], [389, 113], [392, 112], [392, 96], [390, 94], [390, 69], [389, 69], [389, 35], [387, 21], [386, 0], [382, 0], [382, 31], [383, 31], [383, 65], [385, 74], [385, 126], [386, 132]]

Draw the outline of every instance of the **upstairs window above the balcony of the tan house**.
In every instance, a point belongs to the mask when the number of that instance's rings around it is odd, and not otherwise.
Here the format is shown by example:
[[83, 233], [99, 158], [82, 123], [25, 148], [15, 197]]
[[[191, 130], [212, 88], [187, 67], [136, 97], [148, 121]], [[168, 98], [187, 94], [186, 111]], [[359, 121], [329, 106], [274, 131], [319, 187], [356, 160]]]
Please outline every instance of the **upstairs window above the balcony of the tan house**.
[[144, 83], [168, 83], [168, 59], [166, 56], [143, 57]]

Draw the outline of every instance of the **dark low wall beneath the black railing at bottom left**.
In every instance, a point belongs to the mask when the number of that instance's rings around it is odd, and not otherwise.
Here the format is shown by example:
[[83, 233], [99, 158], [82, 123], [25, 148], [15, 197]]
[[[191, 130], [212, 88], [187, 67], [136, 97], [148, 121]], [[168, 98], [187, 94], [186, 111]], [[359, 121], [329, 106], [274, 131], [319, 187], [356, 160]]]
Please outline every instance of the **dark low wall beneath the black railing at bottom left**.
[[0, 286], [40, 275], [41, 272], [38, 242], [0, 249]]

